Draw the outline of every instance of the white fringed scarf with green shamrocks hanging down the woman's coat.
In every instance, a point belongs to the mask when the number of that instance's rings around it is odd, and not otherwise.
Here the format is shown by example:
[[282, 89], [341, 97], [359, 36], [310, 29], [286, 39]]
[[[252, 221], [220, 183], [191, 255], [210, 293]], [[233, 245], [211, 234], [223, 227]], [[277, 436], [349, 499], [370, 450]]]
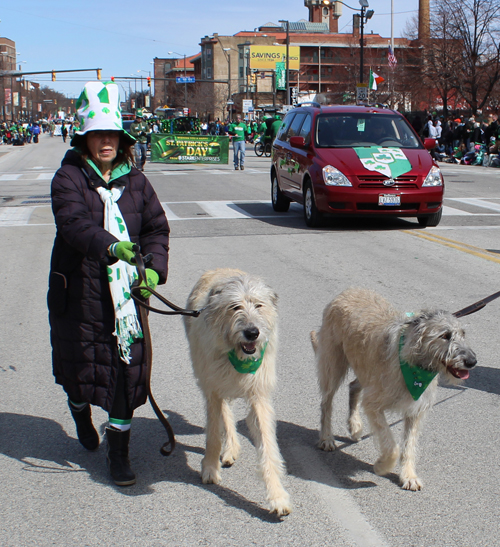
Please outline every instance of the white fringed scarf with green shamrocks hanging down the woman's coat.
[[[114, 186], [111, 190], [102, 186], [97, 188], [104, 203], [104, 229], [120, 241], [130, 241], [127, 225], [117, 203], [123, 190], [123, 186]], [[107, 267], [107, 272], [115, 310], [113, 335], [118, 339], [120, 358], [130, 364], [130, 345], [143, 336], [135, 304], [130, 297], [130, 285], [138, 278], [137, 269], [123, 260], [118, 260]]]

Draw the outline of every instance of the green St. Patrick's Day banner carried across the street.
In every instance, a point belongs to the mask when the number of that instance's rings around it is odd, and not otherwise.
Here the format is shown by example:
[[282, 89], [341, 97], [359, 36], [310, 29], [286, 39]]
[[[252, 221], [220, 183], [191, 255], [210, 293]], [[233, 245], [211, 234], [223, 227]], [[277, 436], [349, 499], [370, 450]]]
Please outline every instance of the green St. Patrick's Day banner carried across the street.
[[218, 135], [151, 134], [151, 161], [156, 163], [227, 164], [229, 137]]

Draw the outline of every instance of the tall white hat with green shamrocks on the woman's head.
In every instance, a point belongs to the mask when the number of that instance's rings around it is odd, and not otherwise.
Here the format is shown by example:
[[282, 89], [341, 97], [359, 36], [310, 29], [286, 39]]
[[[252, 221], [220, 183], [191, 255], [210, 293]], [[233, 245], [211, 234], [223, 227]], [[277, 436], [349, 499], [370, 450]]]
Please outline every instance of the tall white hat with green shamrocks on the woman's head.
[[76, 118], [80, 129], [75, 131], [71, 146], [78, 146], [81, 138], [90, 131], [120, 131], [129, 144], [135, 139], [122, 125], [120, 92], [113, 82], [87, 82], [76, 102]]

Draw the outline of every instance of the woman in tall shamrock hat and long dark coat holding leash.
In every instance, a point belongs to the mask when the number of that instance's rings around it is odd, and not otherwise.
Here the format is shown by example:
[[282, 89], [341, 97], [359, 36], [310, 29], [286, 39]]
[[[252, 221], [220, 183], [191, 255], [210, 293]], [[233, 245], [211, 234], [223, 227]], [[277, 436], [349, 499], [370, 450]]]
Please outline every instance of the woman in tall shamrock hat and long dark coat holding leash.
[[127, 486], [136, 481], [128, 458], [132, 414], [147, 399], [142, 330], [129, 297], [137, 278], [132, 247], [152, 255], [148, 285], [165, 283], [169, 227], [151, 184], [131, 167], [134, 139], [122, 128], [119, 104], [111, 82], [87, 83], [77, 102], [74, 148], [52, 180], [57, 233], [48, 306], [53, 373], [78, 439], [97, 449], [90, 404], [107, 411], [108, 468]]

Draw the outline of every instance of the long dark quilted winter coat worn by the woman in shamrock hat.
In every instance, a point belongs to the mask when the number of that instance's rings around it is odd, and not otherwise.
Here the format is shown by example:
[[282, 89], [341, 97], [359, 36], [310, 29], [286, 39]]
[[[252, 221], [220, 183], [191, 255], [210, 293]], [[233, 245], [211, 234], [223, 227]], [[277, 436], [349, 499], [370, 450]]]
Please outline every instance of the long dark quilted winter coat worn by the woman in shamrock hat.
[[[115, 396], [118, 348], [115, 317], [106, 266], [116, 262], [107, 255], [117, 239], [103, 228], [104, 205], [94, 189], [105, 185], [73, 150], [68, 151], [52, 180], [52, 211], [57, 232], [52, 251], [48, 307], [52, 365], [56, 382], [74, 402], [89, 402], [109, 412]], [[169, 226], [148, 179], [132, 168], [113, 180], [124, 185], [118, 202], [130, 240], [143, 255], [152, 253], [152, 267], [167, 279]], [[147, 399], [147, 370], [142, 342], [131, 346], [125, 365], [130, 408]]]

